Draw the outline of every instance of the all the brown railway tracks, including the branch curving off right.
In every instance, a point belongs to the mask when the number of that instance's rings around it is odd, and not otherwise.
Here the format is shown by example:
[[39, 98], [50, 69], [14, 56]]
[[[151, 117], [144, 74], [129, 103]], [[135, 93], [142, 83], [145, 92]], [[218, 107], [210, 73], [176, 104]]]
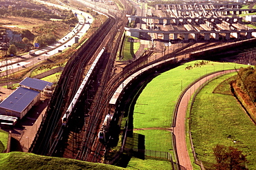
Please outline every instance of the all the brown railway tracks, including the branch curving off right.
[[[109, 100], [120, 83], [149, 64], [220, 44], [202, 43], [193, 47], [195, 42], [192, 41], [161, 59], [152, 61], [152, 63], [149, 63], [148, 60], [153, 53], [153, 50], [150, 50], [144, 56], [125, 66], [122, 72], [113, 75], [113, 63], [118, 52], [118, 43], [116, 42], [120, 42], [124, 25], [127, 23], [125, 14], [131, 12], [127, 2], [123, 3], [127, 11], [116, 19], [109, 17], [95, 36], [86, 41], [68, 61], [55, 89], [54, 97], [51, 99], [46, 117], [39, 128], [37, 138], [30, 147], [30, 151], [33, 153], [89, 162], [104, 162], [104, 154], [108, 153], [111, 147], [109, 140], [112, 140], [113, 136], [107, 136], [105, 142], [100, 142], [98, 132], [104, 117], [114, 113], [116, 106], [109, 105]], [[107, 53], [103, 55], [102, 61], [97, 65], [95, 73], [92, 74], [82, 95], [77, 99], [78, 102], [72, 113], [69, 113], [66, 126], [63, 127], [62, 118], [72, 98], [77, 94], [77, 89], [86, 74], [86, 67], [93, 63], [99, 52], [98, 49], [103, 47], [106, 47]], [[113, 121], [116, 121], [117, 125], [120, 118], [122, 118], [122, 113], [113, 115]]]

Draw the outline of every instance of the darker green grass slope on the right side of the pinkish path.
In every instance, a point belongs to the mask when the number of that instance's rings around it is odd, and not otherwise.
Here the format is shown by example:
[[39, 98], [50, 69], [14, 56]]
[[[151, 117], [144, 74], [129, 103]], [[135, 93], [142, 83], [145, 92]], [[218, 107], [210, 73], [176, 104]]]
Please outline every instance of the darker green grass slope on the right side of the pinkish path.
[[217, 144], [237, 147], [256, 169], [256, 126], [232, 96], [228, 81], [221, 76], [205, 85], [192, 107], [192, 138], [196, 155], [212, 169], [212, 148]]

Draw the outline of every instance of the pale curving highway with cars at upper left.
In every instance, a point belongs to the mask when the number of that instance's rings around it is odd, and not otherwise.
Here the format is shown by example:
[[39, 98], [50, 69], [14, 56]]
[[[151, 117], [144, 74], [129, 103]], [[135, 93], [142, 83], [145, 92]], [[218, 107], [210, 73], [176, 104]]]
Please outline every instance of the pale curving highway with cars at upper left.
[[[40, 3], [46, 3], [44, 1], [40, 1]], [[46, 3], [48, 6], [55, 6], [56, 8], [62, 8], [66, 10], [70, 10], [68, 7], [56, 5], [53, 3]], [[6, 59], [1, 61], [0, 63], [0, 76], [6, 76], [7, 74], [12, 74], [14, 72], [24, 70], [26, 67], [30, 67], [39, 63], [40, 61], [44, 61], [46, 59], [51, 58], [55, 54], [66, 50], [66, 48], [71, 47], [75, 43], [76, 37], [80, 39], [82, 35], [84, 35], [87, 30], [89, 30], [91, 23], [93, 22], [93, 17], [91, 14], [82, 12], [80, 10], [73, 10], [74, 14], [77, 14], [78, 23], [68, 34], [62, 37], [56, 43], [52, 45], [48, 45], [47, 47], [39, 48], [35, 50], [36, 56], [30, 56], [30, 54], [24, 54], [22, 56], [13, 57], [10, 59]], [[8, 70], [8, 71], [6, 71]]]

